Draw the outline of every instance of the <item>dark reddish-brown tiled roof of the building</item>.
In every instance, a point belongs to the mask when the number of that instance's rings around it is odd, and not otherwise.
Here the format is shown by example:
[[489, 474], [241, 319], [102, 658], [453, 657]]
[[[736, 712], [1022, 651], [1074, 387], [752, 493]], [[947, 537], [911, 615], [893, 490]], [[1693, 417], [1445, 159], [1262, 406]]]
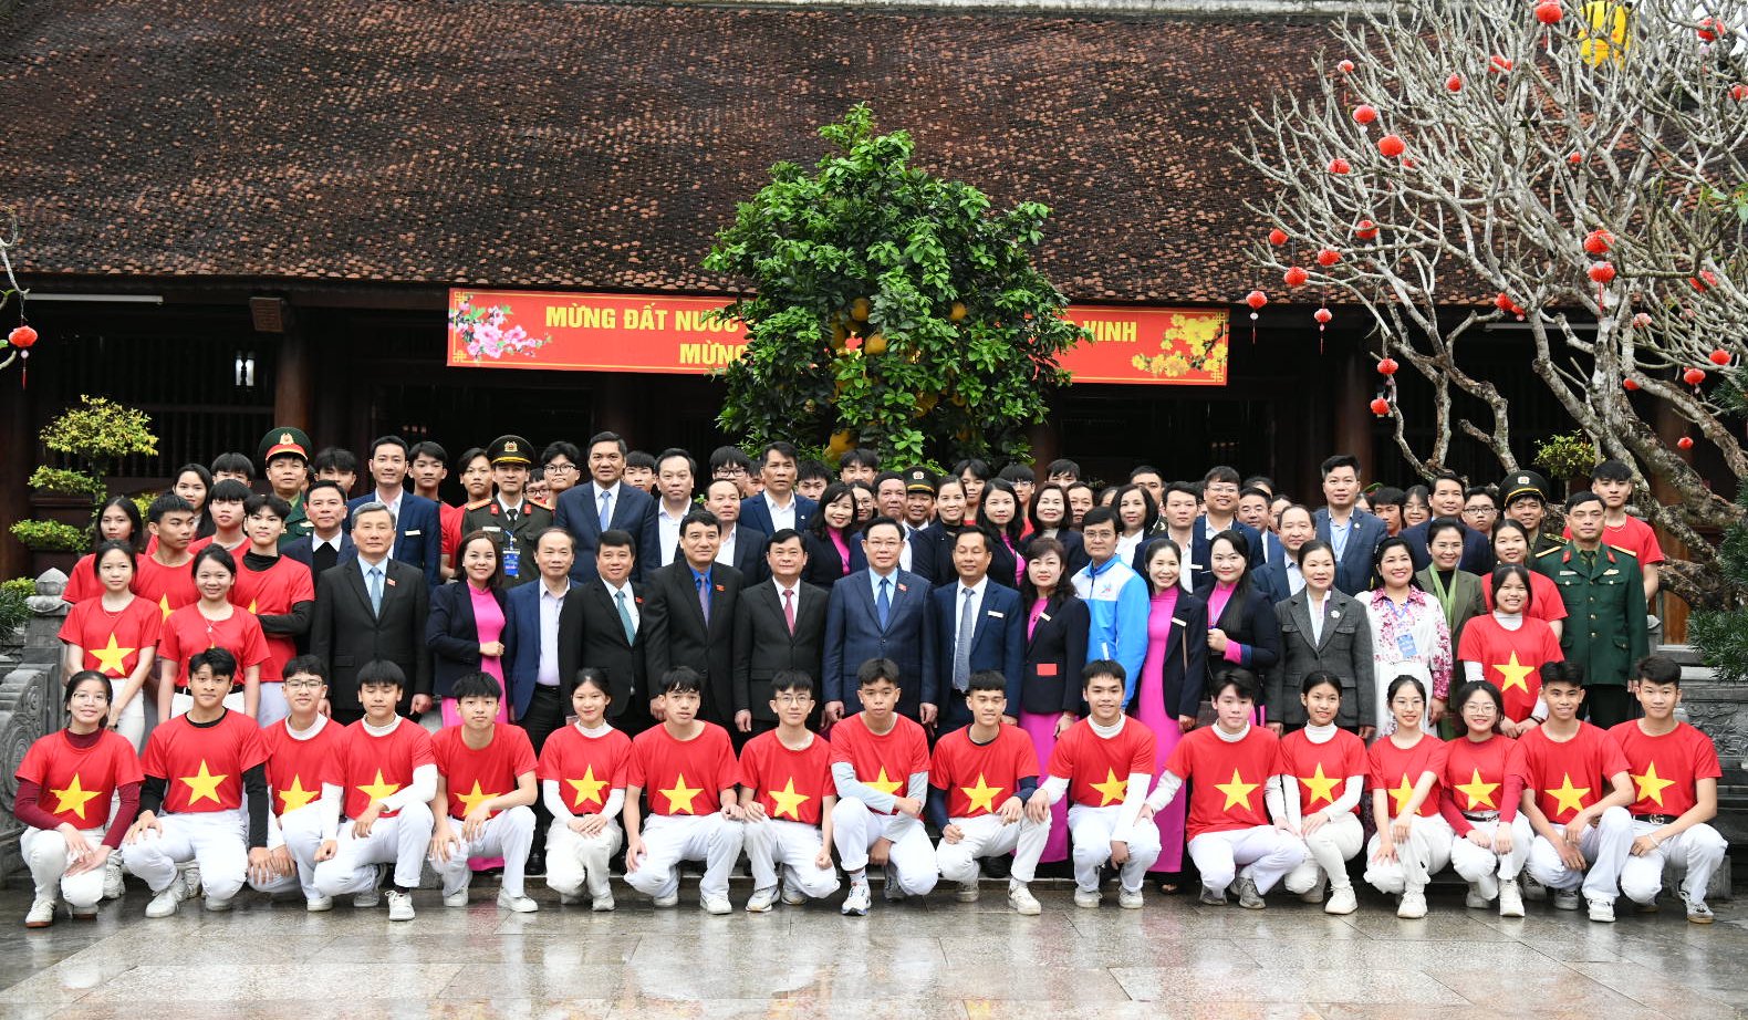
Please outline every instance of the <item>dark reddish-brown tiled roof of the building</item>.
[[1238, 300], [1229, 145], [1316, 23], [484, 0], [23, 0], [24, 269], [732, 290], [711, 234], [869, 101], [918, 164], [1052, 208], [1077, 300]]

